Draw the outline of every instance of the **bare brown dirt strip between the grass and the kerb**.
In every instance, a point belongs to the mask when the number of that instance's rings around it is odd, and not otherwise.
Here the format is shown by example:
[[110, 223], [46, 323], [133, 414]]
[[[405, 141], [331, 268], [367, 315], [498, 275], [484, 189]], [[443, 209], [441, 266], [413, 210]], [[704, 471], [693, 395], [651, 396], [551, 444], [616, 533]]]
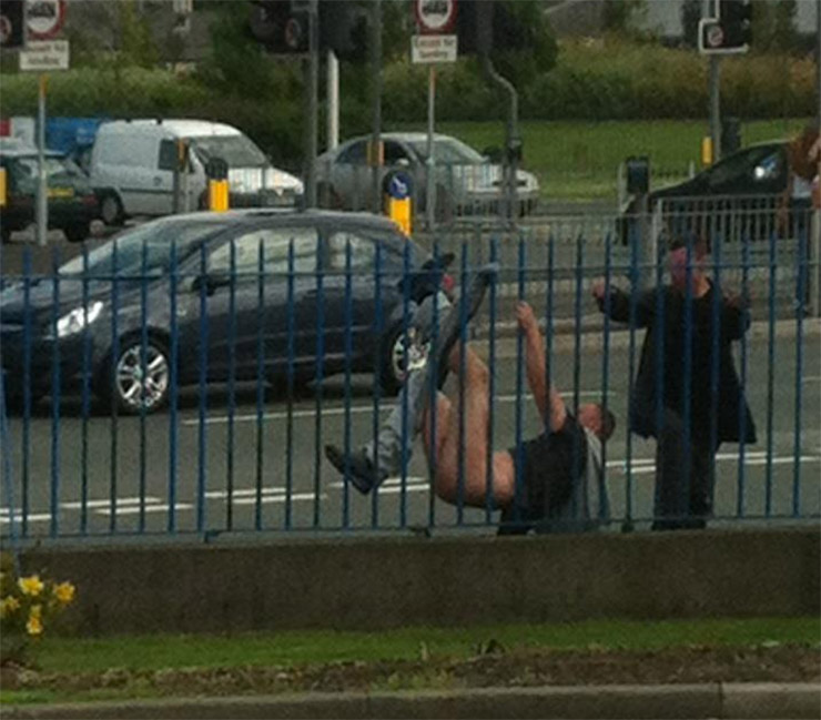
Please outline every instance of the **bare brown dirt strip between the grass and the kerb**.
[[287, 667], [109, 670], [44, 673], [4, 669], [4, 690], [60, 693], [101, 689], [140, 694], [229, 696], [343, 690], [454, 689], [575, 684], [697, 682], [819, 682], [818, 648], [683, 648], [657, 651], [515, 650], [491, 648], [475, 658], [426, 657], [383, 662], [334, 662]]

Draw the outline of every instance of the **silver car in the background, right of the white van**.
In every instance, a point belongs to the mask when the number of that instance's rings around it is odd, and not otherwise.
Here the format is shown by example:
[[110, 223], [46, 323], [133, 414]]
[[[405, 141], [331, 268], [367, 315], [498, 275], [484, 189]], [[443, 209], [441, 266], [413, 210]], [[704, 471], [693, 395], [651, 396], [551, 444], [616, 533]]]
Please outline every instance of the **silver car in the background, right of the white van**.
[[[383, 133], [384, 165], [379, 183], [392, 171], [404, 169], [414, 180], [414, 203], [424, 210], [427, 199], [427, 134], [422, 132]], [[317, 197], [330, 207], [374, 210], [372, 170], [367, 165], [369, 135], [353, 138], [316, 161]], [[501, 165], [456, 138], [434, 135], [436, 162], [436, 214], [439, 220], [454, 215], [497, 213], [505, 201]], [[539, 182], [533, 173], [517, 172], [518, 213], [535, 210]]]

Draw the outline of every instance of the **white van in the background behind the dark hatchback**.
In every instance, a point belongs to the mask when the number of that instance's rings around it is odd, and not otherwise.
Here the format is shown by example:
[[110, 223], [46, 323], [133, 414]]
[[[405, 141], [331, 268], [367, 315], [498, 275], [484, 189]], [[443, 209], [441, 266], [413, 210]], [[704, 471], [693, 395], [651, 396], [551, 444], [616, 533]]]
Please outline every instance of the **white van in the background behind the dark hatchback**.
[[178, 140], [190, 148], [189, 170], [179, 179], [182, 212], [206, 206], [205, 163], [211, 158], [229, 164], [231, 206], [302, 201], [302, 182], [274, 168], [236, 128], [203, 120], [115, 120], [100, 125], [89, 166], [107, 225], [129, 215], [173, 212]]

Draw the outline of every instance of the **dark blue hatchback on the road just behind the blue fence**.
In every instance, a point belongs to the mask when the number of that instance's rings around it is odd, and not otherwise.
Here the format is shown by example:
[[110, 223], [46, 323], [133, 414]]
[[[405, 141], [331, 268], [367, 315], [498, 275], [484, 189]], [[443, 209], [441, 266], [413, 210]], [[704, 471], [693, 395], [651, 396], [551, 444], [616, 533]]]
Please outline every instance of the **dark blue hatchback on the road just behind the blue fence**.
[[405, 369], [402, 278], [423, 255], [394, 223], [366, 214], [255, 210], [146, 223], [54, 277], [2, 291], [7, 396], [19, 405], [26, 384], [38, 399], [54, 377], [62, 388], [88, 376], [120, 412], [151, 412], [168, 400], [174, 356], [176, 383], [191, 385], [201, 373], [280, 383], [288, 368], [306, 379], [320, 355], [325, 376], [349, 355], [353, 372], [376, 372], [393, 392]]

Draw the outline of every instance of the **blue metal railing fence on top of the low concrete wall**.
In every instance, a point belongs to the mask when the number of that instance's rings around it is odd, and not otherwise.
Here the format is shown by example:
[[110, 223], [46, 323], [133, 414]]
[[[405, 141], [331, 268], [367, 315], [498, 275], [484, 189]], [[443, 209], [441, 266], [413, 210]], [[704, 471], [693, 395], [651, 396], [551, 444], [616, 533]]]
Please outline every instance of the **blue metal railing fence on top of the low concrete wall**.
[[[820, 327], [807, 316], [809, 281], [818, 273], [809, 223], [793, 217], [800, 231], [794, 237], [762, 237], [761, 225], [747, 215], [741, 236], [720, 232], [727, 224], [708, 225], [712, 253], [705, 271], [722, 292], [741, 298], [728, 311], [719, 293], [703, 305], [692, 291], [679, 300], [663, 291], [666, 242], [642, 243], [631, 232], [625, 244], [617, 220], [551, 219], [515, 231], [465, 224], [447, 237], [417, 237], [434, 257], [455, 252], [448, 272], [463, 298], [483, 264], [499, 264], [476, 317], [467, 322], [462, 301], [453, 311], [489, 374], [474, 372], [474, 358], [460, 355], [444, 388], [452, 405], [430, 404], [427, 457], [424, 439], [415, 438], [413, 398], [393, 395], [397, 381], [424, 372], [420, 358], [436, 353], [450, 311], [445, 296], [434, 293], [429, 336], [422, 331], [412, 283], [401, 282], [420, 276], [411, 243], [401, 258], [377, 243], [365, 262], [349, 239], [332, 260], [321, 250], [324, 236], [314, 245], [294, 235], [277, 257], [266, 254], [262, 240], [250, 256], [232, 242], [223, 246], [222, 275], [210, 272], [205, 243], [182, 237], [158, 253], [144, 241], [129, 243], [126, 234], [104, 253], [84, 251], [69, 266], [55, 251], [49, 273], [32, 272], [27, 249], [19, 270], [3, 263], [1, 278], [2, 536], [495, 533], [499, 523], [515, 533], [556, 530], [559, 519], [584, 520], [569, 529], [698, 526], [705, 518], [691, 517], [691, 481], [677, 485], [667, 500], [658, 495], [663, 484], [655, 483], [657, 460], [669, 463], [669, 455], [657, 458], [653, 439], [672, 427], [665, 419], [669, 403], [660, 399], [668, 391], [665, 377], [679, 371], [683, 429], [673, 445], [683, 458], [682, 477], [690, 478], [690, 464], [708, 463], [700, 477], [708, 478], [709, 493], [700, 501], [710, 524], [817, 520]], [[757, 232], [744, 237], [751, 227]], [[691, 281], [699, 272], [696, 236], [682, 237], [680, 270]], [[617, 287], [624, 294], [610, 292]], [[601, 307], [591, 297], [596, 288], [604, 293]], [[550, 487], [560, 463], [527, 464], [533, 446], [525, 443], [544, 430], [545, 418], [534, 402], [539, 389], [528, 375], [527, 338], [515, 323], [519, 300], [540, 322], [547, 385], [558, 388], [575, 417], [594, 402], [617, 420], [602, 446], [602, 485], [580, 471], [592, 462], [589, 436], [570, 435], [565, 514], [541, 497], [547, 518], [526, 500], [539, 497], [531, 483]], [[665, 335], [660, 323], [650, 343], [656, 353], [645, 357], [642, 327], [652, 326], [648, 318], [673, 317], [666, 311], [670, 303], [678, 303], [678, 325]], [[746, 329], [748, 313], [752, 325]], [[711, 332], [703, 335], [707, 326]], [[720, 353], [728, 334], [746, 393], [734, 395], [742, 412], [732, 433], [714, 422], [719, 400], [726, 400]], [[665, 343], [677, 336], [683, 356], [666, 355]], [[648, 363], [655, 364], [657, 400], [645, 428], [649, 439], [628, 429], [636, 427], [637, 374]], [[484, 430], [472, 420], [484, 412], [473, 405], [482, 395], [469, 392], [476, 377], [486, 383]], [[433, 386], [424, 392], [433, 399]], [[751, 416], [743, 412], [744, 397]], [[324, 445], [337, 444], [351, 469], [356, 449], [378, 442], [396, 406], [398, 470], [362, 496], [325, 458]], [[690, 422], [699, 413], [711, 418], [709, 428]], [[721, 433], [746, 437], [750, 418], [756, 444], [726, 443], [713, 453]], [[442, 439], [446, 433], [449, 446]], [[709, 446], [700, 455], [693, 450], [699, 443]], [[493, 462], [491, 450], [504, 448], [510, 454], [500, 465]], [[449, 470], [447, 462], [455, 463]], [[515, 468], [511, 504], [494, 485], [504, 479], [494, 474], [506, 462]], [[455, 481], [443, 489], [448, 474]], [[437, 483], [446, 501], [437, 498]], [[574, 483], [587, 484], [588, 491], [578, 493]]]

